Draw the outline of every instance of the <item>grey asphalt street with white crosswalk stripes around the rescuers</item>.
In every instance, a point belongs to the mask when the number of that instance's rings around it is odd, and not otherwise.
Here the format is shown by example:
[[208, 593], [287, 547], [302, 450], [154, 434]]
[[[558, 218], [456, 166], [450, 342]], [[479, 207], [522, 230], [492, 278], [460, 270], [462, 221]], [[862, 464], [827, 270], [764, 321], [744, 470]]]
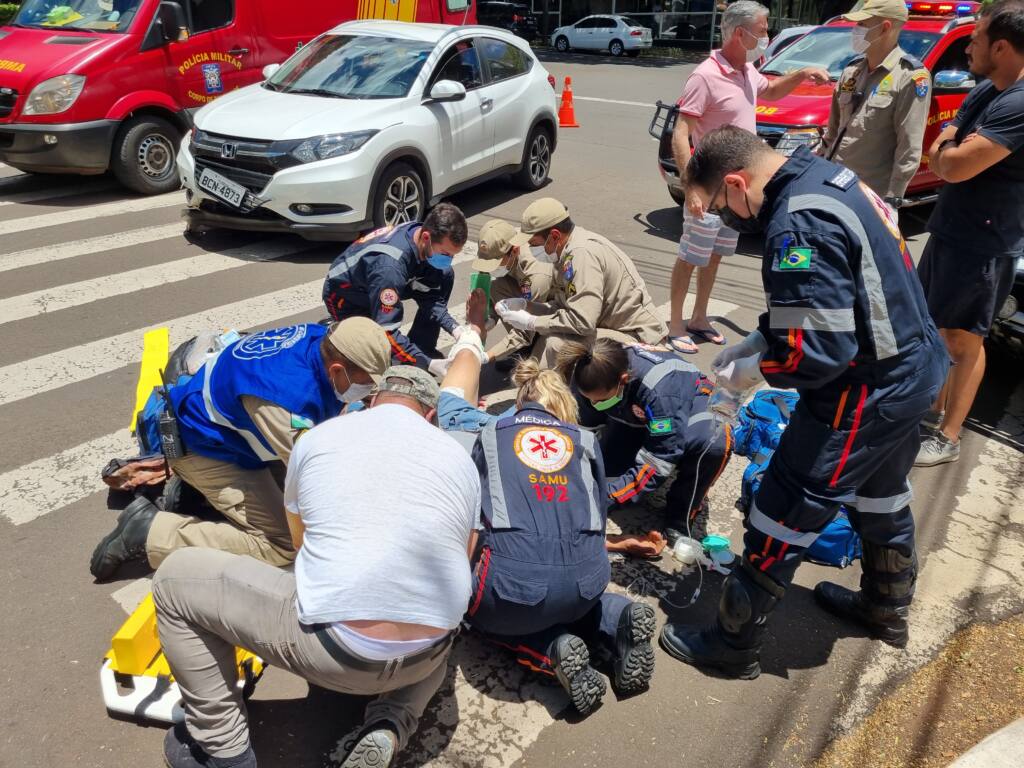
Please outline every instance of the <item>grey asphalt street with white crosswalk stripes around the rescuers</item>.
[[[503, 182], [453, 199], [471, 234], [492, 217], [515, 222], [530, 200], [561, 199], [572, 217], [635, 260], [656, 303], [668, 285], [680, 211], [668, 197], [647, 136], [651, 104], [675, 98], [689, 67], [570, 55], [548, 63], [571, 75], [582, 127], [563, 130], [551, 184], [525, 196]], [[109, 498], [103, 464], [132, 453], [127, 426], [145, 329], [168, 326], [172, 345], [198, 331], [316, 321], [327, 265], [340, 246], [291, 237], [214, 232], [182, 237], [182, 195], [128, 196], [108, 178], [31, 177], [0, 167], [0, 765], [151, 766], [164, 729], [108, 717], [98, 686], [115, 630], [148, 589], [141, 566], [93, 584], [88, 557], [124, 500]], [[925, 212], [904, 214], [913, 253]], [[763, 308], [759, 244], [720, 270], [712, 311], [738, 340]], [[467, 252], [453, 304], [465, 300]], [[696, 357], [707, 367], [712, 350]], [[821, 613], [810, 589], [845, 571], [805, 565], [771, 620], [764, 674], [709, 677], [657, 651], [649, 692], [609, 693], [584, 721], [557, 686], [463, 636], [450, 674], [401, 756], [403, 766], [800, 766], [855, 723], [886, 686], [926, 660], [955, 627], [1019, 611], [1024, 560], [1024, 388], [1006, 365], [990, 372], [958, 463], [915, 472], [923, 571], [905, 652]], [[492, 392], [504, 384], [488, 376]], [[713, 496], [712, 527], [739, 542], [732, 508], [745, 460]], [[395, 500], [396, 503], [399, 500]], [[652, 521], [613, 514], [623, 528]], [[735, 547], [734, 547], [735, 548]], [[677, 577], [660, 564], [620, 562], [614, 589], [642, 595], [659, 621], [700, 622], [721, 578]], [[270, 669], [250, 702], [264, 766], [338, 762], [365, 701]], [[914, 734], [908, 734], [913, 737]]]

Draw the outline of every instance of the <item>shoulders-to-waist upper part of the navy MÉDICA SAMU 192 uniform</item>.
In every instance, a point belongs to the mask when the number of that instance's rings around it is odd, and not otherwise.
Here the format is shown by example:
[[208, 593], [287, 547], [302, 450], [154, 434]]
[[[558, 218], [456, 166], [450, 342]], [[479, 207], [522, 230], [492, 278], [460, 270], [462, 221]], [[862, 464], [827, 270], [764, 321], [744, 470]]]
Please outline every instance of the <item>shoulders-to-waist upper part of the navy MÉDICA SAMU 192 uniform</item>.
[[[531, 570], [603, 560], [604, 473], [592, 432], [537, 403], [487, 424], [475, 449], [483, 488], [482, 544], [494, 567]], [[603, 589], [603, 586], [602, 586]]]

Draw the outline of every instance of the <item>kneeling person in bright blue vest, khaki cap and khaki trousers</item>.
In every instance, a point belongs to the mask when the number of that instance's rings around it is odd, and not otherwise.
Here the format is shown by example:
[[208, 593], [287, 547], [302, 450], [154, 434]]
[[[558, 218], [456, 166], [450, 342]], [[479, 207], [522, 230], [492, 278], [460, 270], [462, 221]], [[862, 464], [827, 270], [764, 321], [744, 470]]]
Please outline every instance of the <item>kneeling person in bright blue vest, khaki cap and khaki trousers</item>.
[[[390, 357], [380, 327], [352, 317], [330, 331], [300, 325], [247, 336], [171, 386], [184, 445], [183, 456], [169, 460], [171, 471], [226, 519], [161, 511], [139, 497], [93, 552], [93, 577], [110, 579], [142, 555], [156, 568], [181, 547], [212, 547], [271, 565], [292, 562], [280, 470], [303, 432], [370, 394]], [[139, 429], [155, 431], [147, 422], [160, 414], [145, 413]]]

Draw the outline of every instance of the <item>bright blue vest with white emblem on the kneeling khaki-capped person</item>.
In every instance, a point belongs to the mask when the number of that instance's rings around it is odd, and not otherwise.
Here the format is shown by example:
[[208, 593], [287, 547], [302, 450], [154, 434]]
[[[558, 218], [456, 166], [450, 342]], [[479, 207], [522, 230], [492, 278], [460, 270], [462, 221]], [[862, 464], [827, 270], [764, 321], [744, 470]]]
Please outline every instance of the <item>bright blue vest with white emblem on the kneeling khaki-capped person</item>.
[[187, 382], [171, 387], [185, 449], [246, 469], [276, 461], [242, 404], [244, 395], [290, 411], [297, 428], [337, 416], [342, 403], [319, 352], [326, 333], [310, 324], [247, 336], [207, 360]]

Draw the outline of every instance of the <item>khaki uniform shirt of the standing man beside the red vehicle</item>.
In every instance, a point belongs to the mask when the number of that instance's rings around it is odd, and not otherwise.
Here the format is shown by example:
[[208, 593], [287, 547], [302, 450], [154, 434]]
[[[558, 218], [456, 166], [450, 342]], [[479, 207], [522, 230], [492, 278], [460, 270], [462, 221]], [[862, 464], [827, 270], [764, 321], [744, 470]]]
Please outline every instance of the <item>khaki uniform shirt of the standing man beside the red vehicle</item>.
[[874, 70], [864, 56], [843, 71], [833, 94], [824, 157], [855, 171], [881, 198], [902, 198], [921, 165], [932, 78], [896, 47]]

